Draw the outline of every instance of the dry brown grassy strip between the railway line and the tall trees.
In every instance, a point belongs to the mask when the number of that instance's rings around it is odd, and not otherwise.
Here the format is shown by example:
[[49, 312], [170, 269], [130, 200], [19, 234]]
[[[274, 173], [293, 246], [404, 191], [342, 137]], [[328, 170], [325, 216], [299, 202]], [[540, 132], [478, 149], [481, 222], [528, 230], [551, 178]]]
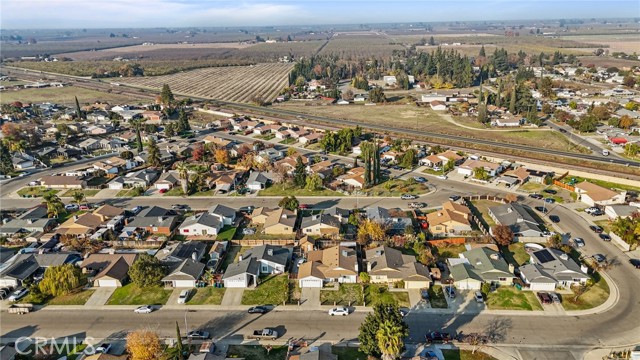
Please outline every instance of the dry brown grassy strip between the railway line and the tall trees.
[[[334, 119], [347, 119], [362, 123], [389, 125], [405, 129], [429, 129], [433, 133], [464, 136], [468, 138], [488, 138], [496, 142], [545, 147], [562, 151], [579, 152], [582, 149], [571, 143], [564, 135], [552, 131], [539, 130], [492, 130], [479, 131], [475, 127], [449, 121], [448, 115], [438, 114], [427, 108], [406, 104], [391, 105], [347, 105], [347, 106], [305, 106], [291, 102], [276, 104], [276, 109], [296, 111], [309, 115]], [[463, 126], [461, 126], [463, 125]]]

